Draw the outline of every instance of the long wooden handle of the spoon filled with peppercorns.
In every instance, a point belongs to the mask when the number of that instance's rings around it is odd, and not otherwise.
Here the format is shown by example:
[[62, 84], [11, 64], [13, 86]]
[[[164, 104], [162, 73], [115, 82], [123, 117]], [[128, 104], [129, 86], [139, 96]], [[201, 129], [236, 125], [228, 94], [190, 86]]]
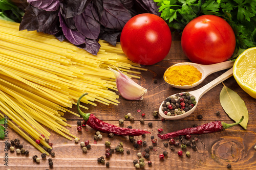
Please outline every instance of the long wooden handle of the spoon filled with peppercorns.
[[223, 82], [224, 80], [228, 79], [232, 75], [233, 75], [233, 68], [230, 68], [215, 80], [212, 80], [210, 83], [204, 85], [203, 87], [197, 90], [191, 91], [190, 93], [196, 97], [197, 101], [199, 101], [201, 96], [204, 95], [207, 91], [209, 91], [211, 88], [215, 87], [219, 83]]

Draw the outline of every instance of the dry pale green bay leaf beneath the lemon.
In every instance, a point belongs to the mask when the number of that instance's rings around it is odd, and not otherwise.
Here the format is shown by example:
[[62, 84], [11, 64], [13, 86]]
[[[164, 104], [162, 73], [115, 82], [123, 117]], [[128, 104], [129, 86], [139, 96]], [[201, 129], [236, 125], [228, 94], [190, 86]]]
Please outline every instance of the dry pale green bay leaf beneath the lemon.
[[236, 92], [234, 92], [233, 90], [224, 85], [220, 92], [220, 103], [224, 111], [234, 121], [238, 122], [243, 115], [244, 119], [240, 123], [240, 125], [244, 129], [247, 129], [248, 110], [247, 107], [245, 106], [244, 101]]

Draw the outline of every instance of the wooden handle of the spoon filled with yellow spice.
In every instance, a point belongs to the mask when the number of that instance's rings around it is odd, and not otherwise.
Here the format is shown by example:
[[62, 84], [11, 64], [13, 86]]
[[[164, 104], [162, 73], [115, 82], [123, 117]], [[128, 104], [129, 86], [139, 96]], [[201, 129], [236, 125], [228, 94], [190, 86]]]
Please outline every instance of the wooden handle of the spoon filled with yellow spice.
[[230, 60], [230, 61], [225, 61], [217, 64], [203, 65], [202, 67], [204, 69], [205, 76], [208, 76], [214, 72], [231, 68], [233, 67], [233, 65], [234, 65], [234, 61]]

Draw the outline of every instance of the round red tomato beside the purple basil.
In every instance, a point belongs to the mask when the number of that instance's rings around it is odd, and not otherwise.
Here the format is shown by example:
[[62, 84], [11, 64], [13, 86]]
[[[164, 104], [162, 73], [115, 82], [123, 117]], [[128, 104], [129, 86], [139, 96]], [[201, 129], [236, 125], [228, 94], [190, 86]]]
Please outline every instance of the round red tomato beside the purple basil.
[[172, 44], [167, 23], [154, 14], [139, 14], [123, 27], [120, 43], [124, 54], [142, 65], [152, 65], [165, 58]]

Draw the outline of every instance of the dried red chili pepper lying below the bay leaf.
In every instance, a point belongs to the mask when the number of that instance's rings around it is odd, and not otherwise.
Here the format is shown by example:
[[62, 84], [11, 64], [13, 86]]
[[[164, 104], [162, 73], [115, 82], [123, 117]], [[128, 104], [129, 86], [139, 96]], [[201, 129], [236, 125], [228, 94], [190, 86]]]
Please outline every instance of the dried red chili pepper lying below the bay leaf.
[[218, 131], [222, 131], [222, 130], [225, 130], [232, 126], [240, 124], [243, 119], [244, 119], [244, 116], [242, 116], [242, 118], [239, 120], [239, 122], [233, 123], [233, 124], [226, 124], [221, 121], [215, 121], [215, 122], [203, 124], [201, 126], [197, 126], [197, 127], [193, 127], [193, 128], [185, 128], [185, 129], [182, 129], [179, 131], [170, 132], [170, 133], [166, 133], [163, 135], [157, 134], [157, 136], [160, 139], [169, 139], [169, 138], [174, 138], [174, 137], [181, 136], [181, 135], [218, 132]]

